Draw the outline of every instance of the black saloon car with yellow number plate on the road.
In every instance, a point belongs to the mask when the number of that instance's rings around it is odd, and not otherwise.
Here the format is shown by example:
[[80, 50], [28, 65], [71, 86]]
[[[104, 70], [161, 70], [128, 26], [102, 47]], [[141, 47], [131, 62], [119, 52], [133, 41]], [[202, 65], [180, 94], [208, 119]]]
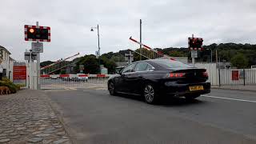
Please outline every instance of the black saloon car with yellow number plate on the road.
[[158, 102], [162, 95], [198, 98], [210, 93], [205, 69], [170, 59], [133, 62], [108, 80], [111, 95], [142, 95], [148, 103]]

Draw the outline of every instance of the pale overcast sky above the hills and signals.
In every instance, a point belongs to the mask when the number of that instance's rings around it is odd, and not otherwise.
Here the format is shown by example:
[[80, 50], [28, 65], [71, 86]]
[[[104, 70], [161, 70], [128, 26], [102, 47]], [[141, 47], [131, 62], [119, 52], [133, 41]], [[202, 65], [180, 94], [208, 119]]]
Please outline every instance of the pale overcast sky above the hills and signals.
[[44, 42], [41, 58], [57, 60], [98, 50], [99, 25], [102, 53], [125, 50], [139, 38], [151, 47], [186, 47], [187, 38], [204, 38], [204, 44], [256, 42], [255, 0], [1, 0], [0, 46], [16, 60], [24, 58], [30, 42], [24, 25], [51, 27], [51, 42]]

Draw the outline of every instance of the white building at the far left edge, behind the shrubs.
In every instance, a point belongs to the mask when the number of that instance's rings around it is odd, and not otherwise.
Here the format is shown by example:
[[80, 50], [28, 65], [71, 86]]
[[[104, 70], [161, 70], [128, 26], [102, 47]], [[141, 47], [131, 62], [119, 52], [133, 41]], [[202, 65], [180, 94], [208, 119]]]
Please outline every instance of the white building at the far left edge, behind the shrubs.
[[13, 66], [13, 58], [10, 58], [10, 51], [5, 47], [0, 46], [0, 59], [2, 60], [3, 72], [2, 76], [10, 78], [12, 76], [12, 66]]

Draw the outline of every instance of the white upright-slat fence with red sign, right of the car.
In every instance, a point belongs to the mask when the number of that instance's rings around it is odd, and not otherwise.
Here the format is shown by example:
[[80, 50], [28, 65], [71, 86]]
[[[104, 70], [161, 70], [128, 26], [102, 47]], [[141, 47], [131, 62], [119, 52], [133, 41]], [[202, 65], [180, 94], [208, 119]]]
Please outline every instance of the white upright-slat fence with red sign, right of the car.
[[256, 70], [232, 69], [218, 70], [219, 86], [223, 85], [256, 85]]

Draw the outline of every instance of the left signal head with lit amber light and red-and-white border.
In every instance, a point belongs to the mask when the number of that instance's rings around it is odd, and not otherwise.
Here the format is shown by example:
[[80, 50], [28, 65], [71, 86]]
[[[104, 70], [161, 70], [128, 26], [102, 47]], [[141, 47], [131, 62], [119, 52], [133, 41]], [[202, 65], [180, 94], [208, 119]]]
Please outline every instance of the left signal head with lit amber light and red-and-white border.
[[50, 27], [25, 25], [25, 40], [50, 42]]

